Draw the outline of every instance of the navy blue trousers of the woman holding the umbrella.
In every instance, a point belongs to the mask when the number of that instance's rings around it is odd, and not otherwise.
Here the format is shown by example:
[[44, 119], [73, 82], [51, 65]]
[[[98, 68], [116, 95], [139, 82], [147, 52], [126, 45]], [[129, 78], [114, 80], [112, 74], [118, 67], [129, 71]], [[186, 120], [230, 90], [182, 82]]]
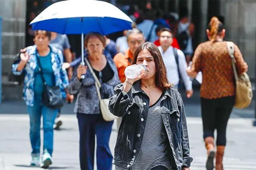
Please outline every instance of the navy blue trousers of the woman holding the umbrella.
[[111, 170], [113, 156], [109, 148], [109, 139], [114, 121], [104, 121], [101, 114], [77, 113], [80, 142], [79, 157], [81, 170], [94, 169], [95, 134], [97, 139], [97, 169]]

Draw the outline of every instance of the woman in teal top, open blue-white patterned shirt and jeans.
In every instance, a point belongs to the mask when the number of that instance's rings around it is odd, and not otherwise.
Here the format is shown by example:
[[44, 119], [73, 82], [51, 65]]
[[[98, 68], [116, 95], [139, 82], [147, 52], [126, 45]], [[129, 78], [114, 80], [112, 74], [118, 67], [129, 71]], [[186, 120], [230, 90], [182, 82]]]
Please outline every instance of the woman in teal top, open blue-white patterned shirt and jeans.
[[68, 76], [62, 69], [62, 52], [49, 45], [51, 33], [38, 30], [35, 32], [34, 46], [22, 49], [20, 62], [12, 64], [12, 72], [21, 75], [25, 72], [23, 98], [30, 117], [30, 143], [32, 146], [31, 165], [40, 163], [40, 123], [43, 117], [44, 152], [42, 168], [52, 164], [53, 124], [58, 109], [43, 104], [44, 83], [66, 89]]

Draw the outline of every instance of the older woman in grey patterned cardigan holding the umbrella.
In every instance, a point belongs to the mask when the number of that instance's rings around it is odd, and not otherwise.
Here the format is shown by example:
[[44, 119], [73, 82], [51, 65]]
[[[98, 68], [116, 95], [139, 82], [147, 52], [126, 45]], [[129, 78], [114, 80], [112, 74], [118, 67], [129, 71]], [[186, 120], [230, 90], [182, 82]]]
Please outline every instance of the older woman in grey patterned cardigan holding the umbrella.
[[[114, 95], [114, 86], [120, 80], [116, 66], [111, 57], [103, 55], [106, 39], [99, 33], [88, 33], [84, 40], [88, 50], [86, 57], [100, 80], [102, 99]], [[85, 78], [81, 79], [84, 74]], [[96, 91], [92, 72], [87, 64], [75, 68], [70, 86], [70, 94], [77, 94], [74, 112], [77, 115], [80, 132], [80, 168], [81, 170], [94, 169], [95, 134], [97, 137], [97, 168], [111, 170], [112, 154], [109, 148], [109, 139], [113, 121], [105, 121], [100, 111], [99, 98]]]

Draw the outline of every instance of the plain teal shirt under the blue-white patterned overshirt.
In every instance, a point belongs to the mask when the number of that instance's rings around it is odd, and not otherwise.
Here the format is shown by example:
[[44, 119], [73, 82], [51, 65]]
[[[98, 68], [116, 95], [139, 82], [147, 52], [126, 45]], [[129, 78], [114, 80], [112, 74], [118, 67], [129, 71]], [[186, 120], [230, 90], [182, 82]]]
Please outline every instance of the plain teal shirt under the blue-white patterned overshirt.
[[44, 80], [48, 86], [54, 86], [54, 74], [52, 70], [52, 62], [51, 62], [51, 51], [46, 56], [38, 55], [38, 59], [41, 64], [42, 74], [39, 71], [39, 66], [36, 66], [35, 69], [35, 83], [34, 83], [34, 93], [42, 94], [44, 90], [44, 82], [42, 79], [42, 75], [44, 76]]

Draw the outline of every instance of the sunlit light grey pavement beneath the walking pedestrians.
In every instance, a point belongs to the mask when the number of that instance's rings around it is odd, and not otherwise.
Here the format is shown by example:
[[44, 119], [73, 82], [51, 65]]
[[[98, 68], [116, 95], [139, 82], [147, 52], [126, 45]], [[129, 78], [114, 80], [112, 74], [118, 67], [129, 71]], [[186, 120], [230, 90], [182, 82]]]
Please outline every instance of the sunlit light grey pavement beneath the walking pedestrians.
[[[191, 170], [205, 170], [206, 150], [202, 139], [199, 91], [194, 91], [190, 99], [185, 97], [184, 91], [181, 94], [188, 117], [191, 155], [194, 158]], [[232, 112], [227, 129], [225, 170], [256, 170], [256, 127], [252, 127], [252, 106], [254, 102], [247, 109], [234, 109]], [[60, 131], [54, 133], [53, 164], [50, 169], [79, 170], [79, 133], [73, 108], [74, 104], [65, 104], [62, 109], [63, 125]], [[41, 169], [29, 166], [29, 120], [23, 101], [0, 104], [0, 129], [0, 170]], [[110, 137], [112, 154], [116, 135], [114, 123]]]

